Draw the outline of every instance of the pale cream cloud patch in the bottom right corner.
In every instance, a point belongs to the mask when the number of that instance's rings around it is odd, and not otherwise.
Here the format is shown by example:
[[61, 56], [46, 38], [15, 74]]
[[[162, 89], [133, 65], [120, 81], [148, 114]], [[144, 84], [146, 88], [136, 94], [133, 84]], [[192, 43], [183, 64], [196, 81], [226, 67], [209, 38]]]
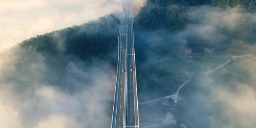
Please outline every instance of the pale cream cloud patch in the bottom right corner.
[[249, 85], [237, 85], [237, 91], [216, 90], [216, 101], [224, 104], [223, 115], [229, 119], [224, 128], [237, 125], [243, 128], [256, 126], [256, 90]]

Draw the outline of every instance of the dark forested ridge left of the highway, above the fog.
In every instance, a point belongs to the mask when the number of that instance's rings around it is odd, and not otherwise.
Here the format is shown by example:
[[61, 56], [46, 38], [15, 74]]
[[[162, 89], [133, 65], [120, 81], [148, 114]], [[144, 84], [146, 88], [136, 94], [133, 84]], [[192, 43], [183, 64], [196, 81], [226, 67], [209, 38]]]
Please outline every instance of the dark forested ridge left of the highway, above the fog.
[[111, 61], [106, 53], [114, 52], [117, 48], [118, 27], [119, 20], [110, 15], [80, 26], [37, 35], [23, 41], [21, 47], [33, 48], [44, 54], [70, 55], [80, 59], [96, 57]]

